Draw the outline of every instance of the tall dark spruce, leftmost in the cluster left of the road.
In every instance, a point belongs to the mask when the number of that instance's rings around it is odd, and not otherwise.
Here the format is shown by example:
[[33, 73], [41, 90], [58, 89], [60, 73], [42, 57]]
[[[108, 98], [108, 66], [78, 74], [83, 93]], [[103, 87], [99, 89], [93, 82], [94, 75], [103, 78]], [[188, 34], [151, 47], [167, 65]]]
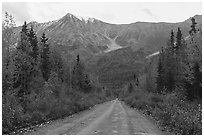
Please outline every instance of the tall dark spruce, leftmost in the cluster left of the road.
[[[28, 38], [28, 29], [26, 22], [22, 26], [21, 38], [17, 46], [14, 57], [14, 88], [18, 88], [17, 96], [21, 102], [26, 101], [29, 91], [29, 83], [33, 72], [33, 58], [30, 56], [31, 45]], [[23, 103], [25, 105], [25, 103]]]

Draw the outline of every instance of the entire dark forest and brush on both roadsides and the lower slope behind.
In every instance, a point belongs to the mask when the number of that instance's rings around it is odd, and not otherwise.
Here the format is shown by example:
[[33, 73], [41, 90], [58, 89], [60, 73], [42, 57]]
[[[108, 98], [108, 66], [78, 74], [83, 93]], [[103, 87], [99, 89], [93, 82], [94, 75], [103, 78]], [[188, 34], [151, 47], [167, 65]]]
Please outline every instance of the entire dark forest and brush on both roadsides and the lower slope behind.
[[[2, 24], [2, 129], [19, 129], [64, 118], [119, 98], [172, 134], [202, 134], [202, 29], [191, 18], [189, 35], [169, 32], [160, 54], [122, 48], [92, 56], [62, 54], [32, 25]], [[16, 35], [16, 34], [15, 34]], [[122, 40], [121, 40], [122, 41]], [[164, 39], [161, 38], [161, 41]], [[69, 52], [69, 51], [63, 51]], [[120, 58], [119, 58], [120, 57]], [[94, 72], [94, 73], [93, 73]]]

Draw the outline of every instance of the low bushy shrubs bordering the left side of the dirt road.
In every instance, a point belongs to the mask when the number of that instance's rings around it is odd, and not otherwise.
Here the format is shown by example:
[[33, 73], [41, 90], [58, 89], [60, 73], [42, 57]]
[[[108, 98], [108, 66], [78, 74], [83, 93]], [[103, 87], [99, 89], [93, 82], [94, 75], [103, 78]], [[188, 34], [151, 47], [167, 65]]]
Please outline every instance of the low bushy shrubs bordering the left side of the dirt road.
[[73, 89], [65, 91], [66, 84], [59, 82], [57, 74], [52, 73], [51, 76], [52, 79], [48, 82], [43, 81], [41, 90], [33, 88], [35, 90], [32, 90], [26, 98], [25, 109], [13, 95], [15, 91], [3, 96], [3, 134], [44, 121], [63, 118], [109, 99], [105, 90], [97, 88], [99, 93], [93, 90], [89, 93]]

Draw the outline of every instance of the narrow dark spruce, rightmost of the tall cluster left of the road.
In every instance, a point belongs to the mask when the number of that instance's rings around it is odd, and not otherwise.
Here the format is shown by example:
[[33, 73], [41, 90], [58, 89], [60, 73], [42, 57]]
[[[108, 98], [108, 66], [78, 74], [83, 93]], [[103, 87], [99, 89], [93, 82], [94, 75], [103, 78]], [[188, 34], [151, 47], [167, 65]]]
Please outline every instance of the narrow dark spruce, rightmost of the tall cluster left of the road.
[[41, 53], [41, 72], [45, 81], [48, 81], [50, 75], [50, 59], [49, 59], [49, 44], [47, 43], [48, 38], [46, 38], [45, 33], [41, 37], [42, 43], [42, 53]]

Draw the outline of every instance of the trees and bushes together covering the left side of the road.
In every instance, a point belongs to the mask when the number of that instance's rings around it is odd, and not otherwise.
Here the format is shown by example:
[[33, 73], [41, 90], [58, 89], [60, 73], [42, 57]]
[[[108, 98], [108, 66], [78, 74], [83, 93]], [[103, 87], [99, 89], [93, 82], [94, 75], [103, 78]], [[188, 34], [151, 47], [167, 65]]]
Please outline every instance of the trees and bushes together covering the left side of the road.
[[[2, 39], [2, 131], [9, 134], [63, 118], [112, 99], [90, 79], [77, 55], [68, 59], [51, 48], [45, 33], [38, 38], [25, 22], [17, 44], [10, 40], [15, 22], [8, 13]], [[70, 61], [71, 60], [71, 61]]]

